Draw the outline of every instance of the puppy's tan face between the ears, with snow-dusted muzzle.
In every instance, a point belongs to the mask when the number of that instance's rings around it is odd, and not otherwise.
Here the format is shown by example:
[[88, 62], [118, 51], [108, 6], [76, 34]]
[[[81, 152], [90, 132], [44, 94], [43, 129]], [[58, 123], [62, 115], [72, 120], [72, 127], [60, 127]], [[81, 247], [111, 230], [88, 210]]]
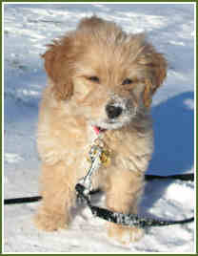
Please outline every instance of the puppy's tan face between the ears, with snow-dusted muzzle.
[[72, 100], [91, 124], [104, 129], [129, 123], [143, 105], [145, 84], [135, 64], [129, 63], [121, 50], [122, 47], [112, 52], [109, 47], [89, 46], [75, 64]]

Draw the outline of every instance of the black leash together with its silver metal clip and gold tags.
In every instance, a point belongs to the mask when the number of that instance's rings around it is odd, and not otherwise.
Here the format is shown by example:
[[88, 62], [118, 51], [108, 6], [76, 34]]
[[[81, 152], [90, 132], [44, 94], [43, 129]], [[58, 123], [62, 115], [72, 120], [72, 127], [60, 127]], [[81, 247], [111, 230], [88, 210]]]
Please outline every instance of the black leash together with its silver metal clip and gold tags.
[[[102, 218], [108, 222], [114, 224], [122, 224], [128, 226], [162, 226], [162, 225], [170, 225], [170, 224], [188, 224], [194, 221], [194, 217], [189, 219], [180, 220], [180, 221], [167, 221], [160, 220], [155, 218], [141, 217], [137, 214], [124, 214], [121, 212], [113, 212], [108, 209], [94, 206], [90, 203], [90, 194], [91, 191], [91, 176], [93, 172], [96, 172], [101, 165], [108, 165], [110, 162], [110, 151], [106, 143], [101, 139], [100, 134], [103, 132], [100, 128], [94, 127], [94, 131], [97, 135], [97, 138], [94, 139], [90, 150], [89, 150], [89, 170], [85, 177], [79, 180], [79, 182], [75, 185], [75, 190], [77, 194], [77, 199], [81, 202], [85, 202], [91, 211], [91, 213], [95, 217]], [[193, 174], [181, 174], [181, 175], [171, 175], [171, 176], [156, 176], [156, 175], [145, 175], [146, 181], [152, 181], [155, 179], [177, 179], [181, 181], [194, 181]], [[30, 197], [30, 198], [16, 198], [16, 199], [6, 199], [4, 200], [4, 204], [12, 204], [12, 203], [32, 203], [40, 201], [42, 197]]]

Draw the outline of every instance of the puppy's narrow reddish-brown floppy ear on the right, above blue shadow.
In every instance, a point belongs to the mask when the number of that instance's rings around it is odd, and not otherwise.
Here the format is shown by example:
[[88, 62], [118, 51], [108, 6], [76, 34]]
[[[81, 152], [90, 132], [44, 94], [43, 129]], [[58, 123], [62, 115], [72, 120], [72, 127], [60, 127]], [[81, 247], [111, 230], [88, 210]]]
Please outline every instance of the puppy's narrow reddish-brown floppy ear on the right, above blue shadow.
[[146, 88], [143, 93], [143, 101], [147, 108], [151, 104], [153, 94], [162, 85], [167, 76], [167, 61], [164, 55], [156, 53], [151, 46], [149, 47], [151, 52], [148, 53], [148, 60], [146, 60], [149, 75], [145, 79]]

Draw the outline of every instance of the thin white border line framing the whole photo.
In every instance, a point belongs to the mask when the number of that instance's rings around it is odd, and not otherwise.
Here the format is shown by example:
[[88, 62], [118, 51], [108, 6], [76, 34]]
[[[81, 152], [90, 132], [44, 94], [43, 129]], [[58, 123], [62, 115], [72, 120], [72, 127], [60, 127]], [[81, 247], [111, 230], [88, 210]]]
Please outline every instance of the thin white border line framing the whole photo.
[[195, 202], [194, 202], [194, 252], [187, 252], [187, 253], [181, 253], [181, 252], [98, 252], [95, 254], [196, 254], [196, 3], [194, 2], [4, 2], [2, 3], [2, 254], [93, 254], [92, 252], [5, 252], [4, 251], [4, 6], [6, 5], [56, 5], [56, 4], [62, 4], [62, 5], [144, 5], [144, 4], [155, 4], [155, 5], [164, 5], [164, 4], [180, 4], [180, 5], [194, 5], [194, 176], [195, 176]]

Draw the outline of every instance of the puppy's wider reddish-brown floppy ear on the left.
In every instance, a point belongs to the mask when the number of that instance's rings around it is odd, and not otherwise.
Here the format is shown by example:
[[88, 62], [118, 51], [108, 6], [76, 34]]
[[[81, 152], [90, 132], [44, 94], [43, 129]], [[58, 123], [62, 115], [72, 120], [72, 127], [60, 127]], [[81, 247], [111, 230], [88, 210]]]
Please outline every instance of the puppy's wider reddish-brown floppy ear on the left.
[[53, 41], [49, 50], [42, 55], [45, 59], [45, 69], [52, 81], [52, 92], [59, 100], [66, 100], [73, 93], [71, 42], [69, 38]]

